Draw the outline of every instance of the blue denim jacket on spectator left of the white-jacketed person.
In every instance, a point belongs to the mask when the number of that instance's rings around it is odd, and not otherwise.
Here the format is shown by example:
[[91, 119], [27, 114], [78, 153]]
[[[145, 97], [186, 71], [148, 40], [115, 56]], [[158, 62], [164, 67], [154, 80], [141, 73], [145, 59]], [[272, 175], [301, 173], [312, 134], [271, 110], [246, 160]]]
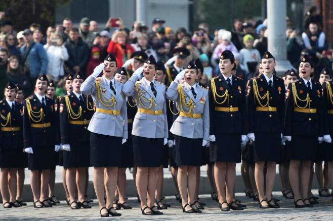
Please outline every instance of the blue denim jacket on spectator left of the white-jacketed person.
[[[31, 45], [32, 45], [32, 43], [29, 45], [29, 47], [31, 47]], [[26, 44], [24, 44], [20, 48], [22, 67], [24, 67], [23, 59], [24, 59], [25, 47], [26, 47]], [[31, 78], [37, 78], [38, 75], [40, 75], [41, 73], [46, 73], [49, 60], [48, 60], [48, 56], [45, 52], [43, 45], [35, 42], [32, 45], [32, 48], [28, 54], [27, 59], [30, 64], [30, 77]]]

